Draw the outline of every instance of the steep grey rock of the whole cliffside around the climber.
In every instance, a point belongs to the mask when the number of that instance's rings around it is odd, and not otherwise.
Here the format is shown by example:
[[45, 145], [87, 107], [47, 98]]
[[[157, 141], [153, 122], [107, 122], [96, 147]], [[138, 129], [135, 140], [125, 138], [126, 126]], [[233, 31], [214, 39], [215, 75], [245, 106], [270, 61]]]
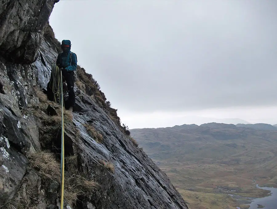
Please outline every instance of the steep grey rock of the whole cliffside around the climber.
[[[53, 118], [47, 115], [49, 121], [39, 119], [43, 113], [39, 112], [42, 99], [38, 99], [34, 89], [46, 90], [51, 65], [57, 57], [42, 37], [54, 2], [0, 1], [0, 207], [3, 208], [19, 204], [18, 196], [25, 201], [19, 201], [20, 204], [28, 203], [34, 208], [59, 206], [59, 182], [43, 176], [42, 169], [30, 167], [28, 157], [47, 148], [60, 152], [59, 123], [51, 124]], [[65, 156], [77, 158], [78, 172], [74, 175], [82, 173], [99, 187], [89, 196], [79, 195], [71, 208], [187, 208], [167, 175], [122, 133], [104, 109], [77, 86], [75, 90], [73, 118], [65, 125]], [[49, 105], [45, 112], [58, 114]], [[102, 136], [101, 142], [90, 134], [88, 125], [94, 127], [97, 136]], [[47, 137], [50, 140], [46, 141]], [[41, 162], [46, 164], [47, 160]], [[108, 169], [108, 162], [114, 170]], [[67, 199], [65, 202], [70, 204]]]

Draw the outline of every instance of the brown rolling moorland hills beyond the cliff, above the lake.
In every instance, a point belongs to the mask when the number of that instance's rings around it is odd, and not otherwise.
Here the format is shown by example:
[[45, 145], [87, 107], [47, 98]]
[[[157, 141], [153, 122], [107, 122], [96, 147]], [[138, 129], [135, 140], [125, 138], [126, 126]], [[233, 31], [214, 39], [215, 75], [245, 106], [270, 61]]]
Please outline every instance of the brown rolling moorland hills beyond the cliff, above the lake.
[[[223, 192], [220, 188], [228, 194], [259, 196], [253, 179], [259, 185], [277, 186], [275, 126], [207, 123], [130, 132], [185, 199], [200, 198], [202, 192], [218, 194]], [[231, 208], [211, 206], [209, 201], [202, 199], [192, 208]]]

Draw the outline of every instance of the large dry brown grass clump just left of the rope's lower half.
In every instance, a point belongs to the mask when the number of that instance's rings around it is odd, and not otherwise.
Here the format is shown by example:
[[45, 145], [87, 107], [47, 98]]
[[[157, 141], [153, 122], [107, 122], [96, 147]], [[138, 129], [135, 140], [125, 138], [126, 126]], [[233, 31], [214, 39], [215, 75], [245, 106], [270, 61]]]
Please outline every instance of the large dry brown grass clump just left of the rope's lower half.
[[30, 153], [28, 156], [30, 167], [38, 171], [43, 178], [60, 180], [60, 164], [53, 153], [39, 151]]

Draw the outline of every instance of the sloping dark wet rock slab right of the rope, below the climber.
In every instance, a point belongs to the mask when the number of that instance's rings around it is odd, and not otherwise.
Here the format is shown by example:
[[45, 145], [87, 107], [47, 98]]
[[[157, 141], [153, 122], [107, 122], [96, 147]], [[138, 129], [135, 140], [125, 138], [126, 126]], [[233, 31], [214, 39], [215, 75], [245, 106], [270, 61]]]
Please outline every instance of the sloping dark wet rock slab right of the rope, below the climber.
[[[74, 124], [80, 131], [81, 169], [89, 178], [101, 183], [91, 202], [100, 208], [186, 208], [167, 176], [129, 138], [120, 132], [109, 116], [93, 100], [83, 115], [74, 113]], [[83, 123], [89, 122], [101, 132], [102, 144], [93, 140]], [[107, 170], [100, 160], [111, 161], [115, 172]], [[102, 201], [105, 198], [106, 201]], [[122, 199], [124, 201], [122, 201]]]

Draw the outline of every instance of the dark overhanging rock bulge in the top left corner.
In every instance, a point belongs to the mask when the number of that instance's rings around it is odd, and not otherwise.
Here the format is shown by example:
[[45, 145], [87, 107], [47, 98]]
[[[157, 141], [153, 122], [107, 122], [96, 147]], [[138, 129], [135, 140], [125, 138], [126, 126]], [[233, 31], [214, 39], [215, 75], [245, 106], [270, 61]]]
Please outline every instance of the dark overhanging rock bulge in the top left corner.
[[55, 2], [58, 1], [0, 1], [1, 55], [16, 63], [33, 62]]

